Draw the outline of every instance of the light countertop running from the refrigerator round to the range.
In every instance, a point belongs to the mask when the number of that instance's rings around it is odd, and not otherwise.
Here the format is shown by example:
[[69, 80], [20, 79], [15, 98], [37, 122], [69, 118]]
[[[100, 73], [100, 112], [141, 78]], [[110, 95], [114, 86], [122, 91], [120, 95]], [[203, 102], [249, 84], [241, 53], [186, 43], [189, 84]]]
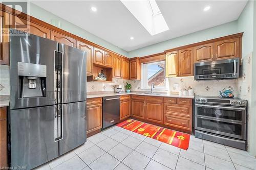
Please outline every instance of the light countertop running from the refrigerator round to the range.
[[135, 94], [135, 95], [150, 95], [150, 96], [159, 96], [159, 97], [170, 97], [170, 98], [187, 98], [187, 99], [194, 99], [194, 95], [177, 95], [177, 94], [167, 94], [167, 93], [162, 93], [162, 94], [145, 94], [143, 92], [124, 92], [124, 93], [101, 93], [101, 94], [88, 94], [87, 99], [91, 98], [103, 98], [106, 96], [115, 96], [115, 95], [130, 95], [130, 94]]

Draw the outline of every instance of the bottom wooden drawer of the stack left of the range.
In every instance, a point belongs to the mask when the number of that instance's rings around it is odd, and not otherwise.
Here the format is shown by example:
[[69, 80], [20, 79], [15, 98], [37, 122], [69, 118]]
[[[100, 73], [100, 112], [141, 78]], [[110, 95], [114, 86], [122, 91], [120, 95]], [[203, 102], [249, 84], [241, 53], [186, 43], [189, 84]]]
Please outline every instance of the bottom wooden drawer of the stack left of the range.
[[191, 130], [192, 119], [180, 116], [164, 114], [164, 124], [181, 129]]

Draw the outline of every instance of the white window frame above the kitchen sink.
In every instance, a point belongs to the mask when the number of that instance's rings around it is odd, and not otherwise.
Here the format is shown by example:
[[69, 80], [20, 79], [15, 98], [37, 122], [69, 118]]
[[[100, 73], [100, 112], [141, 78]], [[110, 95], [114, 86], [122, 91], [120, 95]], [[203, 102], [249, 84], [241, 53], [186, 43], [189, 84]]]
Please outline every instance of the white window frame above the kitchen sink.
[[150, 90], [151, 86], [148, 85], [147, 81], [147, 70], [145, 70], [145, 67], [147, 65], [153, 65], [158, 63], [164, 63], [164, 86], [155, 86], [155, 90], [168, 90], [167, 88], [167, 78], [165, 77], [165, 61], [156, 61], [156, 62], [150, 62], [150, 63], [141, 63], [141, 89], [142, 90]]

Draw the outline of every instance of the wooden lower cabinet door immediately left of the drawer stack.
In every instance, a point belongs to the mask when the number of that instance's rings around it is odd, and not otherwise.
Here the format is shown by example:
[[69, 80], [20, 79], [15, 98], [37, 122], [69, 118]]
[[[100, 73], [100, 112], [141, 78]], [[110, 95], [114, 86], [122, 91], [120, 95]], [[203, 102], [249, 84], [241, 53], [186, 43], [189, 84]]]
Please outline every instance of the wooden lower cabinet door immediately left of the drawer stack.
[[146, 102], [146, 120], [163, 123], [163, 103]]

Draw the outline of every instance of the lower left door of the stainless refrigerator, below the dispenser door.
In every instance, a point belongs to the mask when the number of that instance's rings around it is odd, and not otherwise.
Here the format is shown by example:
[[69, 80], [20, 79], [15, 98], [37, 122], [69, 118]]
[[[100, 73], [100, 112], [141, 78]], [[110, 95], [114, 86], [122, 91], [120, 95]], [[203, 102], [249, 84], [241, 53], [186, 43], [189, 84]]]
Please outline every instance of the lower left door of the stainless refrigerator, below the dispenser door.
[[54, 138], [57, 106], [10, 111], [11, 166], [31, 169], [58, 157]]

